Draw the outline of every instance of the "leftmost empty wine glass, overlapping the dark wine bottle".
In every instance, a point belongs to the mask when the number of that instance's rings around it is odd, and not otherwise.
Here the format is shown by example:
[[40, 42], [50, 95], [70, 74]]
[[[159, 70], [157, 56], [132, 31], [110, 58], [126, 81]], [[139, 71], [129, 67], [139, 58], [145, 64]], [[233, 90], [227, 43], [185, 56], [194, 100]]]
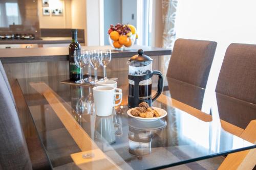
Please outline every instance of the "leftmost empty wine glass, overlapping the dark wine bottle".
[[83, 80], [83, 70], [82, 70], [82, 68], [87, 65], [87, 61], [83, 59], [85, 55], [88, 55], [88, 53], [82, 52], [80, 50], [74, 51], [75, 64], [80, 68], [80, 80], [76, 81], [76, 83], [79, 83], [79, 84], [86, 83], [86, 81]]

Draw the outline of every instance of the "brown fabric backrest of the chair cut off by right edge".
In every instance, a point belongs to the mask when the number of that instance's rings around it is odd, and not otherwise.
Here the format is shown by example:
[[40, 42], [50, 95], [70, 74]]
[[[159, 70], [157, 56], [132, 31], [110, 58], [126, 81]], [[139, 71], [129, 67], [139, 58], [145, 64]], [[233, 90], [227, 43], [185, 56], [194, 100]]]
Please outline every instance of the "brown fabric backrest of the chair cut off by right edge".
[[228, 46], [216, 92], [256, 104], [256, 45]]

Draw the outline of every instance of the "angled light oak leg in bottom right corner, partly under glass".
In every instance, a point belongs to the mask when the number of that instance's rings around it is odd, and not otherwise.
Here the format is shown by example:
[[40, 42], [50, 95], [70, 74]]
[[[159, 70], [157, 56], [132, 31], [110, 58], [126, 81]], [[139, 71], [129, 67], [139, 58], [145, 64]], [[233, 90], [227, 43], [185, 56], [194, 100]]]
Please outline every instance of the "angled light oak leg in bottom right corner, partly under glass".
[[[249, 125], [243, 131], [241, 138], [256, 143], [256, 120], [251, 120]], [[222, 162], [219, 170], [226, 169], [253, 169], [256, 164], [256, 149], [241, 151], [229, 154]]]

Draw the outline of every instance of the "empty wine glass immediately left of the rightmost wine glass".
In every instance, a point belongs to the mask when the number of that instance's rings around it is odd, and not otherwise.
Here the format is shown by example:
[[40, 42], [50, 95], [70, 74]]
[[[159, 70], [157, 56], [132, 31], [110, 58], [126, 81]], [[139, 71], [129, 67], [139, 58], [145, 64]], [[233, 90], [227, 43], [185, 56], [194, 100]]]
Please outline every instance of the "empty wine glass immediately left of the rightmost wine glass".
[[91, 81], [92, 84], [97, 84], [98, 82], [98, 67], [100, 65], [100, 57], [102, 55], [101, 51], [93, 50], [91, 51], [90, 57], [90, 64], [94, 68], [94, 81]]

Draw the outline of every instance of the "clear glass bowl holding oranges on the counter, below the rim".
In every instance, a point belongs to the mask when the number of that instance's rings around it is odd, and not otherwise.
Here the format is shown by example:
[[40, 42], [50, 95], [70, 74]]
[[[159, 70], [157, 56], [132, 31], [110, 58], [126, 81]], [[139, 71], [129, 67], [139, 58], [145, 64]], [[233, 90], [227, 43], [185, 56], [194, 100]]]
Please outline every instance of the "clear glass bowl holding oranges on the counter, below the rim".
[[115, 50], [127, 50], [129, 49], [136, 40], [136, 34], [131, 35], [119, 35], [119, 38], [117, 41], [114, 41], [111, 39], [111, 36], [109, 35], [109, 42], [110, 45], [115, 48]]

